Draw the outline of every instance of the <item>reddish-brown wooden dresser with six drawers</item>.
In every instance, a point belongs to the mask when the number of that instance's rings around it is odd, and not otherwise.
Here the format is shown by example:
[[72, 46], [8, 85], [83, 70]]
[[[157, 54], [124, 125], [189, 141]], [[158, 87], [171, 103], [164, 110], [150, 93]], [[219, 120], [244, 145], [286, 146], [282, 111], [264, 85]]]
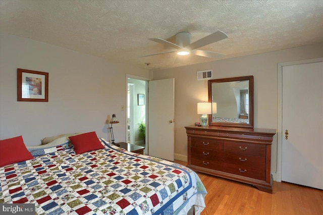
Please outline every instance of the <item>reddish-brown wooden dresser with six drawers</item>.
[[271, 147], [274, 129], [187, 126], [190, 169], [273, 192]]

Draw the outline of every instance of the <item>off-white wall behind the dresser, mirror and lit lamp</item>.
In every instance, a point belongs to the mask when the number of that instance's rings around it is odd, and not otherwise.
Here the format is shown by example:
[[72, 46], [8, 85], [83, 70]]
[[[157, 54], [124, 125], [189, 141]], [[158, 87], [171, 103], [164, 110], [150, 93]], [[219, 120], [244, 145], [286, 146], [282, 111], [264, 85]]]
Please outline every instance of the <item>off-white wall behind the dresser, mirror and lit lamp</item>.
[[[187, 159], [185, 126], [199, 122], [197, 102], [207, 101], [207, 80], [196, 72], [213, 70], [213, 79], [254, 76], [254, 127], [277, 129], [277, 66], [323, 57], [323, 44], [308, 45], [209, 63], [153, 71], [153, 79], [175, 78], [175, 159]], [[272, 145], [272, 172], [277, 168], [277, 135]]]

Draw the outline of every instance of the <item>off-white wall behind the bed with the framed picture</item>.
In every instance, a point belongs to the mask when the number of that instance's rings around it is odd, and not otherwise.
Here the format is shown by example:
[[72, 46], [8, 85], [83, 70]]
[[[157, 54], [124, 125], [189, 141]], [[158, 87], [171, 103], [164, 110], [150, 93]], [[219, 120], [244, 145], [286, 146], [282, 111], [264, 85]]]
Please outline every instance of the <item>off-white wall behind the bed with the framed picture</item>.
[[[48, 102], [17, 101], [17, 68], [49, 73]], [[22, 135], [26, 145], [39, 145], [47, 136], [89, 131], [107, 139], [107, 119], [116, 114], [115, 140], [125, 141], [126, 73], [149, 78], [132, 65], [1, 35], [0, 139]]]

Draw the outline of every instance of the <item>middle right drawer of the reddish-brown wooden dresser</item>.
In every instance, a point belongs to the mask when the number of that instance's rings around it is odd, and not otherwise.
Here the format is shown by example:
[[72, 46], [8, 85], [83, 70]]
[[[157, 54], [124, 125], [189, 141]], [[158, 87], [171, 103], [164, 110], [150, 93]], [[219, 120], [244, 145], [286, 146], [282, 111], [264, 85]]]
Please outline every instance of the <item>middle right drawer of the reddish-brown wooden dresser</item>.
[[224, 162], [245, 167], [255, 167], [264, 170], [266, 158], [242, 153], [225, 152]]

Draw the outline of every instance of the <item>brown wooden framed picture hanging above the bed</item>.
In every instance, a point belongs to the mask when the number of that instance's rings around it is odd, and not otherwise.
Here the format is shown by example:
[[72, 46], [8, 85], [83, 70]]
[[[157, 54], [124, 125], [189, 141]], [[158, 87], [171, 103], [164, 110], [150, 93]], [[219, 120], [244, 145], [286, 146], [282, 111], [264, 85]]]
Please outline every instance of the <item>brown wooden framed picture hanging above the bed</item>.
[[17, 69], [17, 100], [48, 102], [48, 73]]

